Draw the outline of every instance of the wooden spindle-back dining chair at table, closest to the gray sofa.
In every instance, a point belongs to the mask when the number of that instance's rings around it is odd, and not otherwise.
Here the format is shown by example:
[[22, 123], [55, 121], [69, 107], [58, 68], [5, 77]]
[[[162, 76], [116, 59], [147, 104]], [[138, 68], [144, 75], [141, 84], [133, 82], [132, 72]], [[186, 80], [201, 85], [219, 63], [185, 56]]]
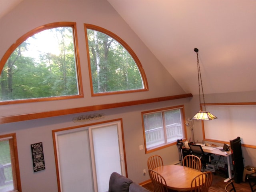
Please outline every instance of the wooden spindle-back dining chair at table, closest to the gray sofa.
[[154, 186], [154, 192], [168, 192], [166, 180], [162, 175], [152, 169], [148, 170], [148, 173]]

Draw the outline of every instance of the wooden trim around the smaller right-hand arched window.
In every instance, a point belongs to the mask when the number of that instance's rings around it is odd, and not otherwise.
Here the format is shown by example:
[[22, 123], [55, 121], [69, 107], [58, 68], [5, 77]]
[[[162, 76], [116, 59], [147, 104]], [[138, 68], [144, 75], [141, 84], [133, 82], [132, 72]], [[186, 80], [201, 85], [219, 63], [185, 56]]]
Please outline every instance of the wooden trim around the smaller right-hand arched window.
[[[144, 88], [142, 89], [136, 89], [136, 90], [121, 90], [121, 91], [113, 91], [113, 92], [100, 92], [100, 93], [94, 93], [93, 91], [93, 85], [92, 85], [92, 72], [91, 72], [91, 66], [90, 66], [90, 53], [89, 53], [89, 46], [88, 46], [88, 38], [87, 38], [87, 29], [91, 29], [91, 30], [96, 30], [98, 32], [102, 32], [108, 36], [110, 36], [111, 38], [113, 38], [114, 40], [116, 40], [118, 43], [120, 43], [125, 49], [126, 51], [132, 56], [135, 64], [138, 66], [138, 70], [140, 72], [141, 78], [142, 78], [142, 83], [144, 85]], [[141, 92], [141, 91], [148, 91], [148, 82], [147, 82], [147, 78], [146, 78], [146, 74], [144, 72], [144, 69], [142, 67], [142, 64], [140, 63], [140, 60], [138, 59], [138, 57], [136, 56], [136, 54], [134, 53], [134, 51], [132, 50], [132, 48], [130, 48], [130, 46], [124, 42], [124, 40], [122, 40], [119, 36], [117, 36], [116, 34], [110, 32], [109, 30], [106, 30], [102, 27], [96, 26], [96, 25], [92, 25], [92, 24], [84, 24], [84, 31], [85, 31], [85, 38], [86, 38], [86, 48], [87, 48], [87, 58], [88, 58], [88, 68], [89, 68], [89, 75], [90, 75], [90, 87], [91, 87], [91, 94], [92, 96], [102, 96], [102, 95], [112, 95], [112, 94], [121, 94], [121, 93], [132, 93], [132, 92]]]

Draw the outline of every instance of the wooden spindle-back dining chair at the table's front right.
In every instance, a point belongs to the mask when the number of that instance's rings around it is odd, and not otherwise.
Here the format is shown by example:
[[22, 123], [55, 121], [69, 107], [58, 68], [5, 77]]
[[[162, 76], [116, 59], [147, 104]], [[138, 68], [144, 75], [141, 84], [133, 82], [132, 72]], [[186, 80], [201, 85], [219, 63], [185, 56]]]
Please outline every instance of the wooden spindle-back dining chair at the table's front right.
[[208, 192], [212, 184], [212, 172], [206, 171], [195, 178], [191, 182], [190, 192]]

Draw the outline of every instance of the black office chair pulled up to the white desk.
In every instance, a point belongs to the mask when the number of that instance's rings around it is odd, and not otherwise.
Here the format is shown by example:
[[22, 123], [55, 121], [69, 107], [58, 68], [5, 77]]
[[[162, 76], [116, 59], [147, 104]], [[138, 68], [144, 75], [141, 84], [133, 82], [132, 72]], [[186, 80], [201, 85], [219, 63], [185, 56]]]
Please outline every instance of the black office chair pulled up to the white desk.
[[190, 147], [192, 154], [196, 155], [200, 158], [204, 168], [205, 168], [206, 164], [210, 164], [211, 161], [213, 160], [214, 157], [211, 156], [211, 153], [205, 154], [204, 150], [202, 149], [202, 146], [190, 144], [190, 143], [188, 144], [188, 146]]

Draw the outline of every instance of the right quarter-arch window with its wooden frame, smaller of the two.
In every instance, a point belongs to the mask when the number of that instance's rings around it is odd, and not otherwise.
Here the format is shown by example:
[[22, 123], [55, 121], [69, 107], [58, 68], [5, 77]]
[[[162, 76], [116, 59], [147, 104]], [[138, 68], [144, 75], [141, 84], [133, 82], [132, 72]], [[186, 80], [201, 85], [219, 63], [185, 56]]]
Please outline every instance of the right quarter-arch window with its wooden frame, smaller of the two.
[[148, 90], [139, 59], [121, 38], [98, 26], [84, 27], [92, 96]]

